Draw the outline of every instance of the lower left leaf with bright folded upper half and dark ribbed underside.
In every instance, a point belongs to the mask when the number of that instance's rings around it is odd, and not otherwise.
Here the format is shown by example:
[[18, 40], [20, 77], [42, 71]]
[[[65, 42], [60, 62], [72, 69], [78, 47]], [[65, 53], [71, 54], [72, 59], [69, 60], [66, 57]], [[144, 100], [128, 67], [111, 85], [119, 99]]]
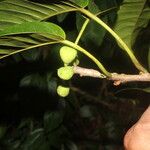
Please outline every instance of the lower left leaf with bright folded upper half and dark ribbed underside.
[[[26, 34], [27, 37], [21, 36]], [[0, 31], [0, 59], [63, 39], [65, 32], [58, 25], [49, 22], [24, 22], [5, 27]]]

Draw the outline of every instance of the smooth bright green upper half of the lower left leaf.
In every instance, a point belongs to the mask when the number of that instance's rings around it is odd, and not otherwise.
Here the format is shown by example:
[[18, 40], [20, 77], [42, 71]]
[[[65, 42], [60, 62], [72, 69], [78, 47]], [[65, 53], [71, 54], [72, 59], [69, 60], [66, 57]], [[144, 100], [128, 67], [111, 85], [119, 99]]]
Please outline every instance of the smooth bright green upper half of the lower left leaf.
[[24, 22], [6, 27], [0, 31], [0, 36], [36, 33], [44, 35], [50, 39], [65, 39], [65, 32], [54, 23], [49, 22]]

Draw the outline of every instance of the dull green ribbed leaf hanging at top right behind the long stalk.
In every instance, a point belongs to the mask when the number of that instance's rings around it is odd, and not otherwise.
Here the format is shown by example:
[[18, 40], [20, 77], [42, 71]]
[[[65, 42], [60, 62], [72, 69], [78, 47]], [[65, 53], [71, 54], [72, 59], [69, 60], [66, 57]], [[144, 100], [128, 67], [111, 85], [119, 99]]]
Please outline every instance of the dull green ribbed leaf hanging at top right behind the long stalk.
[[124, 0], [118, 11], [115, 32], [131, 48], [132, 36], [145, 6], [146, 0]]

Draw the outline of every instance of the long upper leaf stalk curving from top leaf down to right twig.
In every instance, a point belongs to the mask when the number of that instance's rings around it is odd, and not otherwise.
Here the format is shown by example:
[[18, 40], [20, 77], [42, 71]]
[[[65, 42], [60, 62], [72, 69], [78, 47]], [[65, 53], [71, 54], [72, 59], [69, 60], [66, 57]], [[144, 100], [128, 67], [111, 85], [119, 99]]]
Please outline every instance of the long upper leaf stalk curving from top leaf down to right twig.
[[99, 19], [97, 16], [92, 14], [86, 9], [80, 8], [79, 11], [89, 18], [95, 20], [98, 24], [100, 24], [102, 27], [104, 27], [117, 41], [120, 43], [120, 45], [124, 48], [124, 50], [127, 52], [129, 57], [131, 58], [133, 64], [135, 67], [141, 71], [141, 72], [148, 72], [137, 60], [137, 58], [134, 56], [133, 52], [130, 50], [130, 48], [124, 43], [124, 41], [107, 25], [105, 24], [101, 19]]

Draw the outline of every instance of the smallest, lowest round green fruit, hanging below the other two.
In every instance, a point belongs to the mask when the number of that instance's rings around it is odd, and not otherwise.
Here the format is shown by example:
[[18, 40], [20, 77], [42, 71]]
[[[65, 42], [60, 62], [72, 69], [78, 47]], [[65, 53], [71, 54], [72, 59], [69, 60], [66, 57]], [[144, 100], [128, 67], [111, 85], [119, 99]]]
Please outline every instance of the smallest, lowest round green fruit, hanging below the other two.
[[59, 85], [57, 87], [57, 94], [61, 97], [68, 96], [70, 88]]

